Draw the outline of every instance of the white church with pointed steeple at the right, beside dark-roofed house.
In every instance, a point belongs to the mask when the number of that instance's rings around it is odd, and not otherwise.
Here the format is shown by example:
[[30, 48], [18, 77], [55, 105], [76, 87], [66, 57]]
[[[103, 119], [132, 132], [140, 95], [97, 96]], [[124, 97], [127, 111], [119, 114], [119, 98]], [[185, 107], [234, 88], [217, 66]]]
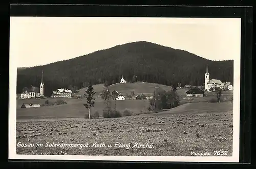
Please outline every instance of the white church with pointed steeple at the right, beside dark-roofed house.
[[220, 87], [226, 90], [233, 90], [231, 82], [222, 82], [219, 79], [210, 79], [210, 74], [208, 71], [208, 65], [206, 65], [206, 73], [204, 80], [204, 91], [211, 91], [211, 88], [215, 90], [215, 87]]

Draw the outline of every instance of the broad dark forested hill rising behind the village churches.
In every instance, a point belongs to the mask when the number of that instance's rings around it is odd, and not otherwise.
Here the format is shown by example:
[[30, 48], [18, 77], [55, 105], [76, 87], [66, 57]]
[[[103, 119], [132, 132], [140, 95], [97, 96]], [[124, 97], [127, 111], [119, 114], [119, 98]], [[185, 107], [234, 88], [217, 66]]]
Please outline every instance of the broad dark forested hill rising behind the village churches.
[[151, 42], [132, 42], [70, 60], [18, 69], [17, 92], [30, 85], [39, 87], [42, 70], [46, 95], [50, 95], [52, 90], [71, 85], [79, 89], [88, 83], [117, 83], [122, 75], [127, 82], [137, 76], [137, 81], [164, 85], [178, 82], [182, 86], [201, 85], [204, 83], [206, 64], [210, 78], [233, 82], [233, 60], [210, 61]]

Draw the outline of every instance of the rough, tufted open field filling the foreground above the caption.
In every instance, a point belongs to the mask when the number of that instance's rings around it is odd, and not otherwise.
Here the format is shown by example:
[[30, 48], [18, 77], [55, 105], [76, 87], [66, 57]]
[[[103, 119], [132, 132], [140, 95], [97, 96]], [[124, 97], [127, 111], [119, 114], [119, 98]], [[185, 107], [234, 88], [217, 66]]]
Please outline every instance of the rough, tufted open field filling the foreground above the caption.
[[[41, 147], [16, 147], [17, 154], [191, 156], [191, 152], [227, 151], [232, 155], [232, 112], [129, 116], [121, 118], [41, 120], [17, 122], [16, 143], [42, 143]], [[84, 144], [45, 147], [47, 142]], [[93, 147], [104, 142], [106, 147]], [[131, 144], [129, 149], [115, 143]], [[135, 143], [152, 144], [137, 148]], [[88, 146], [86, 147], [86, 143]], [[112, 144], [108, 148], [108, 144]], [[50, 144], [48, 144], [50, 145]]]

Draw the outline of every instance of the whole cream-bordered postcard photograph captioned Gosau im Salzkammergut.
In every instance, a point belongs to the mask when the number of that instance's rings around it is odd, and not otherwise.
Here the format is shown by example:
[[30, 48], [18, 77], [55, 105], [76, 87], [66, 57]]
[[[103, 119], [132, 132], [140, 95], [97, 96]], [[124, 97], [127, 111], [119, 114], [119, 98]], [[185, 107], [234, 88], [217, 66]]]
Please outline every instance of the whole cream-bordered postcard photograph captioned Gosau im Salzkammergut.
[[9, 156], [238, 162], [240, 50], [240, 18], [10, 17]]

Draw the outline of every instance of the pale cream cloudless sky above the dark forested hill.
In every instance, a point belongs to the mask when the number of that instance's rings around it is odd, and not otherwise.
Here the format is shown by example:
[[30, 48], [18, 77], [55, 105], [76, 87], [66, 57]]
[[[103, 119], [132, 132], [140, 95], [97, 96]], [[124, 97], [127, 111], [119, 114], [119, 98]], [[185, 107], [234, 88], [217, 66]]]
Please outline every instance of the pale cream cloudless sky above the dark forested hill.
[[68, 60], [148, 41], [210, 60], [240, 58], [240, 18], [10, 17], [17, 67]]

